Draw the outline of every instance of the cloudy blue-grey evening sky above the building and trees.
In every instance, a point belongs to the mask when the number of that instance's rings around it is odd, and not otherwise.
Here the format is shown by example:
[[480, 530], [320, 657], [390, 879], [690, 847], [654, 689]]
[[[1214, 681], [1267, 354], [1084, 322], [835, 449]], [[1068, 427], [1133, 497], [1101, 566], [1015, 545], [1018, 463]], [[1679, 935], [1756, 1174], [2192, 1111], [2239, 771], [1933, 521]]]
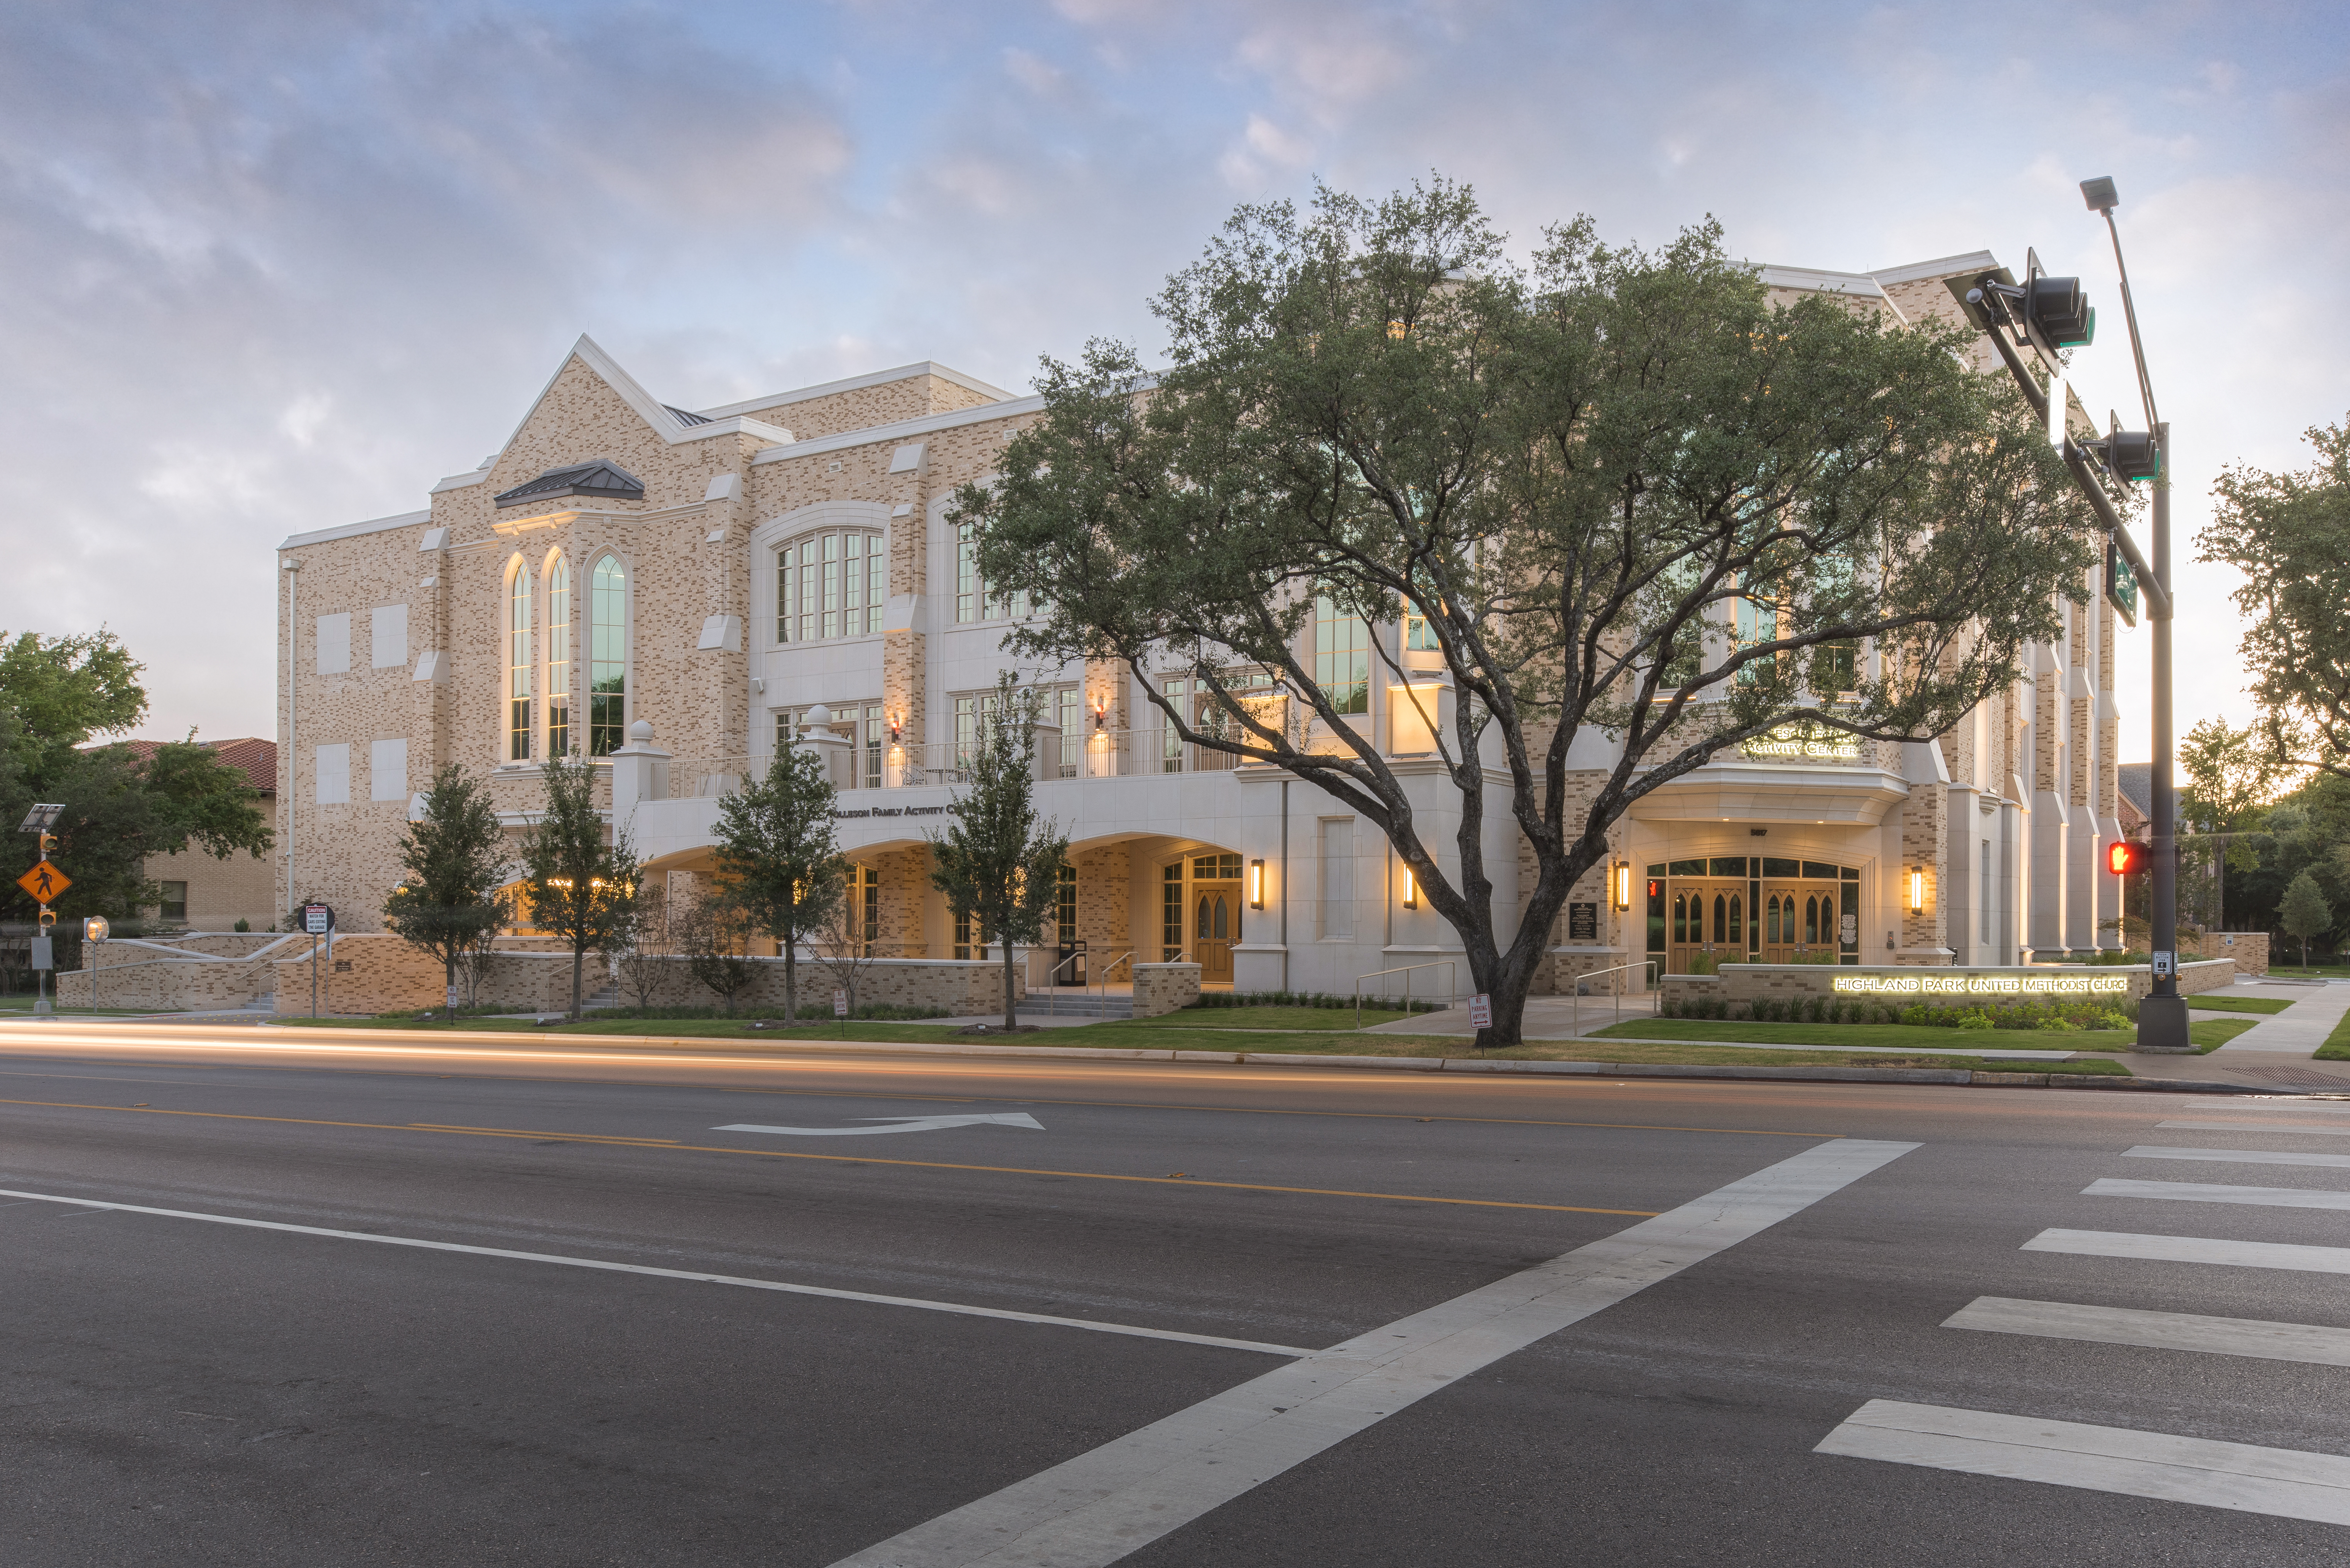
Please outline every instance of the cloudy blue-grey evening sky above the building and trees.
[[[148, 733], [270, 733], [273, 545], [414, 510], [580, 331], [710, 407], [942, 360], [1029, 386], [1234, 202], [1441, 169], [1530, 240], [2026, 244], [2134, 407], [2113, 174], [2181, 451], [2181, 719], [2244, 712], [2225, 463], [2350, 409], [2336, 5], [0, 2], [0, 628], [113, 625]], [[2143, 755], [2146, 632], [2122, 661]]]

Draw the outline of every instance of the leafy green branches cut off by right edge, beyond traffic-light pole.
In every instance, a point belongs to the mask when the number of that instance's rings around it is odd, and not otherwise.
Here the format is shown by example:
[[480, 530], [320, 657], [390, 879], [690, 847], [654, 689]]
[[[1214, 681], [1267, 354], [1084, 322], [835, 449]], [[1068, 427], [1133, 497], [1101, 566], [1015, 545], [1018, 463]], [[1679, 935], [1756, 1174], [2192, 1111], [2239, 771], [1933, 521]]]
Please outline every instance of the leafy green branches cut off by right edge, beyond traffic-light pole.
[[2244, 574], [2244, 665], [2280, 757], [2350, 778], [2350, 418], [2305, 433], [2303, 473], [2230, 468], [2197, 559]]

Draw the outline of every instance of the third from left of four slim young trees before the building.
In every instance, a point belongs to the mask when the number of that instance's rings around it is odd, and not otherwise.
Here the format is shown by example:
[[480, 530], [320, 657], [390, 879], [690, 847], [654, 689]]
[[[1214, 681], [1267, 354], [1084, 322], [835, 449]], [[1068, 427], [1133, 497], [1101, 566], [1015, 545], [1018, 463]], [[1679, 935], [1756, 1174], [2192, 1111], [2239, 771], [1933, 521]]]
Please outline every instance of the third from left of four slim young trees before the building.
[[813, 748], [776, 752], [766, 778], [719, 797], [719, 882], [783, 947], [785, 1011], [799, 1018], [799, 945], [841, 896], [837, 792]]

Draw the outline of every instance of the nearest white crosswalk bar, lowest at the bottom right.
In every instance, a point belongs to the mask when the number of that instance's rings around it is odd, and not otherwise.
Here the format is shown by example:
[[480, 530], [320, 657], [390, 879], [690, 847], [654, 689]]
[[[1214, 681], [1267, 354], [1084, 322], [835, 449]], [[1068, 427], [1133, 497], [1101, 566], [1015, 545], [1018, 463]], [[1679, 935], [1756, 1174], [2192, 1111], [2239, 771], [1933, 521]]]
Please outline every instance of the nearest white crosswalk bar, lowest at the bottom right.
[[1871, 1399], [1812, 1453], [2350, 1523], [2350, 1460], [2296, 1448]]

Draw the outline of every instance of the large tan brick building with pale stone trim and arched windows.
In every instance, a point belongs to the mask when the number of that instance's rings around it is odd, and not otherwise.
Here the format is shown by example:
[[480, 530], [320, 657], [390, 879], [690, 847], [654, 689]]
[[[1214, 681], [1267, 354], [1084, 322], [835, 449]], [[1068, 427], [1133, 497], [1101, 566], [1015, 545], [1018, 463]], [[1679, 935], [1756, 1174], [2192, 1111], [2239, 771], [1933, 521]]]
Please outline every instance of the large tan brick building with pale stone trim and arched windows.
[[[1955, 320], [1943, 280], [1995, 266], [1762, 277], [1779, 299]], [[954, 797], [1025, 607], [980, 581], [947, 510], [1039, 409], [924, 362], [684, 411], [580, 339], [505, 447], [432, 484], [425, 508], [280, 545], [287, 879], [268, 907], [324, 898], [343, 931], [378, 931], [435, 769], [484, 776], [519, 832], [555, 752], [609, 769], [606, 809], [649, 875], [707, 870], [717, 797], [813, 736], [841, 783], [867, 940], [886, 957], [975, 957], [928, 884], [924, 830]], [[2117, 621], [2094, 571], [2063, 625], [1939, 743], [1758, 741], [1647, 795], [1610, 835], [1633, 907], [1614, 910], [1593, 870], [1537, 990], [1643, 959], [2012, 964], [2110, 945]], [[1403, 668], [1431, 658], [1396, 625], [1328, 618], [1300, 651], [1368, 686], [1368, 733], [1424, 755], [1401, 689], [1370, 679], [1370, 637]], [[1039, 806], [1074, 863], [1032, 983], [1081, 947], [1095, 978], [1128, 952], [1191, 954], [1208, 985], [1241, 990], [1349, 992], [1358, 976], [1459, 964], [1386, 839], [1314, 785], [1180, 745], [1123, 668], [1025, 675], [1048, 689]], [[1189, 696], [1180, 658], [1163, 682]], [[1593, 733], [1570, 766], [1607, 762]], [[1457, 795], [1434, 759], [1408, 788], [1443, 853]], [[1485, 820], [1495, 903], [1523, 907], [1509, 811]]]

